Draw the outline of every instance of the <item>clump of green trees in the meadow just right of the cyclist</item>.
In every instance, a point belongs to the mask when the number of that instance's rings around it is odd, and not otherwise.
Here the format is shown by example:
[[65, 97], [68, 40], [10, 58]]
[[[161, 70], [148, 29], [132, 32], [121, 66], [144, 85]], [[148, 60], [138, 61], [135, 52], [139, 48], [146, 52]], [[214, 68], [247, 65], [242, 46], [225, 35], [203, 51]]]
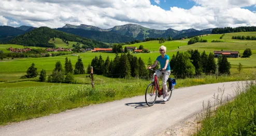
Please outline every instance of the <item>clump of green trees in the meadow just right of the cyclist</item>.
[[[188, 50], [187, 52], [177, 52], [170, 59], [170, 68], [176, 78], [187, 78], [200, 76], [202, 74], [216, 74], [216, 61], [214, 54], [207, 55], [205, 51], [200, 54], [198, 50]], [[218, 74], [230, 75], [231, 64], [226, 56], [218, 58]]]

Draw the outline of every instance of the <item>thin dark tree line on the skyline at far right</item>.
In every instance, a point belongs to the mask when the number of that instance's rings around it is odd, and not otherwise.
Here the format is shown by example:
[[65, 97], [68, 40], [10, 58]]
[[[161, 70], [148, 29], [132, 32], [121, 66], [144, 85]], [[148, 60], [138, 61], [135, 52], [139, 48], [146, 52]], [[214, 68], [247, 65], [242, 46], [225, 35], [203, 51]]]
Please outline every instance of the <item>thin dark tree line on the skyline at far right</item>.
[[224, 28], [214, 28], [212, 29], [212, 34], [230, 33], [230, 32], [247, 32], [256, 31], [256, 26], [241, 26], [241, 27], [224, 27]]

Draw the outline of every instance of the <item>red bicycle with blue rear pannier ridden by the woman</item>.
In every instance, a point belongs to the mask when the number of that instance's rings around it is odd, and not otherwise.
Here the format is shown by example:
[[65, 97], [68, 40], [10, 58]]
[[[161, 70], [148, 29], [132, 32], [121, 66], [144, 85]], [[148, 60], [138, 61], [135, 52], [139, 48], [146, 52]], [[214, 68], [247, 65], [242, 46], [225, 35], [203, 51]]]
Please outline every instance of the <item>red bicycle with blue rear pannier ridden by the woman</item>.
[[[153, 74], [154, 79], [153, 79], [153, 82], [148, 84], [148, 87], [145, 92], [145, 100], [146, 100], [146, 104], [148, 106], [153, 106], [155, 103], [155, 100], [157, 100], [157, 96], [158, 97], [163, 96], [163, 89], [161, 89], [161, 91], [159, 91], [160, 85], [159, 85], [158, 78], [157, 78], [157, 72], [162, 71], [162, 70], [152, 70], [152, 69], [149, 69], [149, 70], [154, 71], [154, 74]], [[172, 96], [173, 89], [176, 84], [176, 80], [173, 78], [168, 78], [167, 82], [168, 82], [167, 96], [169, 96], [167, 99], [167, 101], [168, 101], [170, 99], [170, 97]], [[148, 100], [148, 98], [149, 98], [149, 100]]]

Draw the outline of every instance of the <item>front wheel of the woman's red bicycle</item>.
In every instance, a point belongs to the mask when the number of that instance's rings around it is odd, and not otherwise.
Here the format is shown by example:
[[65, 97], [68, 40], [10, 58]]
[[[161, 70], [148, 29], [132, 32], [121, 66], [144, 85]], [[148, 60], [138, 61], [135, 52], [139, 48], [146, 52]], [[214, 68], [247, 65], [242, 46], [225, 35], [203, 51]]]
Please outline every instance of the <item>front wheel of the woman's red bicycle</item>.
[[157, 88], [154, 89], [154, 83], [150, 83], [146, 89], [145, 100], [148, 106], [154, 105], [157, 99], [158, 91]]

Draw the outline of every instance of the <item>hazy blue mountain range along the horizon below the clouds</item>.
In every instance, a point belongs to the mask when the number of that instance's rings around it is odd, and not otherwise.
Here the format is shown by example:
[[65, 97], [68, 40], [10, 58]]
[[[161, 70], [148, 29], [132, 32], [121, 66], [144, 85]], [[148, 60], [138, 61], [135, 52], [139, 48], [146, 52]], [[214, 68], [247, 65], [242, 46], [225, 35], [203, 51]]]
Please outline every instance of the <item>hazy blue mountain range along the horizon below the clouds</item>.
[[[0, 26], [0, 42], [7, 42], [19, 35], [23, 35], [31, 30], [38, 29], [32, 26]], [[51, 29], [51, 28], [50, 28]], [[62, 28], [54, 28], [55, 30], [63, 31], [66, 33], [72, 33], [84, 38], [89, 38], [99, 42], [105, 43], [126, 43], [135, 40], [144, 40], [146, 38], [168, 38], [180, 39], [183, 37], [194, 37], [198, 35], [209, 34], [212, 28], [204, 30], [186, 29], [186, 30], [174, 30], [169, 28], [167, 30], [150, 29], [135, 24], [126, 24], [121, 26], [115, 26], [109, 29], [102, 29], [91, 25], [70, 25], [66, 24]]]

